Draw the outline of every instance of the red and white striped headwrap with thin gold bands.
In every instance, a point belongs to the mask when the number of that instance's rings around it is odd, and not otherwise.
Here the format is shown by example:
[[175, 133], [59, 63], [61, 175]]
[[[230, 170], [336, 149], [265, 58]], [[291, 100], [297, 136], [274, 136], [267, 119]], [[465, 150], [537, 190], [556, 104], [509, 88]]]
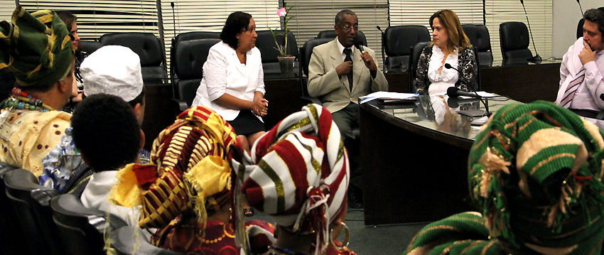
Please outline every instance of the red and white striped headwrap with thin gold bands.
[[346, 210], [350, 178], [330, 112], [308, 104], [266, 132], [251, 151], [232, 156], [249, 205], [292, 232], [316, 232], [316, 254], [325, 251], [330, 222]]

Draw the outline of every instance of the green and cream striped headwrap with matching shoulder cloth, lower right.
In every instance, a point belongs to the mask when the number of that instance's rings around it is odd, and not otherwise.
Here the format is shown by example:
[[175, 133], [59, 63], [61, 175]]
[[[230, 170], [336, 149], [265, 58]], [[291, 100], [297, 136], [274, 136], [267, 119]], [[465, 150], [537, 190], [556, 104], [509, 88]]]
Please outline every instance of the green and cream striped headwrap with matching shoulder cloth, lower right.
[[[503, 107], [470, 150], [470, 196], [482, 214], [428, 224], [406, 254], [600, 254], [603, 131], [552, 104]], [[436, 252], [436, 251], [432, 251]]]

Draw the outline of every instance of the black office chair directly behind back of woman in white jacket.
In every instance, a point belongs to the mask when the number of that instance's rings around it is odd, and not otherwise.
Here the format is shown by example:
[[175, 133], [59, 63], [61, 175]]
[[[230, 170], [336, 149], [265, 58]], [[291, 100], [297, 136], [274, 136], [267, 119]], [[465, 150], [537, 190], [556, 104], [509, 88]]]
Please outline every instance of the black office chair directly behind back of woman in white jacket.
[[178, 77], [173, 83], [177, 114], [191, 107], [203, 78], [203, 64], [210, 48], [220, 39], [178, 40], [171, 53], [171, 70]]

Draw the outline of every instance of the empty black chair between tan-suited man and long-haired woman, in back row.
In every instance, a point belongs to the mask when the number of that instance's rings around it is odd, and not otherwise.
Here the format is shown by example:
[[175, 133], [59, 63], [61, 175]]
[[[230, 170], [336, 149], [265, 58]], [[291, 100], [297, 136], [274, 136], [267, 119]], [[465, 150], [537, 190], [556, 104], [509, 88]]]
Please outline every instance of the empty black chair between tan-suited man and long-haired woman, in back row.
[[[385, 37], [385, 38], [384, 38]], [[384, 65], [387, 70], [406, 69], [412, 48], [421, 42], [431, 40], [426, 26], [389, 26], [382, 37], [382, 58], [387, 55]], [[389, 43], [388, 43], [389, 42]]]

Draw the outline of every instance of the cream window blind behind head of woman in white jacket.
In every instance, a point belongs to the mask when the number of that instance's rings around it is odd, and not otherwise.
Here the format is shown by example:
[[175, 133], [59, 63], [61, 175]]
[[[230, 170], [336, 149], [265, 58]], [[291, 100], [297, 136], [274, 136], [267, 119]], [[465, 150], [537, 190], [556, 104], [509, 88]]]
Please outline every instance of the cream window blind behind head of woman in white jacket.
[[[279, 0], [157, 0], [163, 23], [163, 40], [166, 45], [168, 63], [170, 47], [174, 33], [193, 31], [220, 32], [230, 13], [244, 11], [252, 15], [256, 22], [256, 30], [269, 30], [269, 27], [280, 28]], [[174, 3], [172, 9], [171, 3]]]

